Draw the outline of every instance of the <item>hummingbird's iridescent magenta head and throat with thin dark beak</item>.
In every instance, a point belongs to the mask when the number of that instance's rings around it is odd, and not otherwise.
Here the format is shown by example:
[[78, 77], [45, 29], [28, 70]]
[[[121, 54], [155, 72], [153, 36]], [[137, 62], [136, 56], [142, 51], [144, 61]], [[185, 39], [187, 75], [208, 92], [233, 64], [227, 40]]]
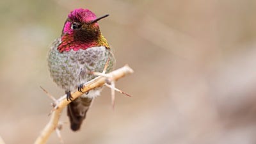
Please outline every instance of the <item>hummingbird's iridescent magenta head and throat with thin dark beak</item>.
[[96, 15], [88, 9], [75, 9], [68, 14], [61, 34], [61, 45], [58, 50], [60, 52], [78, 51], [78, 49], [87, 49], [93, 46], [108, 46], [108, 42], [101, 35], [98, 21], [109, 15], [96, 17]]

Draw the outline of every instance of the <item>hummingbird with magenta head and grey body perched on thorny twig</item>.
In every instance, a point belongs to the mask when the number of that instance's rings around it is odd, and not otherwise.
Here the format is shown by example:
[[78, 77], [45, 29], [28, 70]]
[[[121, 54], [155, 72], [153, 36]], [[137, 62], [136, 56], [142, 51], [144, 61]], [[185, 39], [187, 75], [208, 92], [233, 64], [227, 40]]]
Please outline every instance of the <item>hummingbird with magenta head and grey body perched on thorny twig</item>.
[[65, 90], [67, 115], [72, 131], [78, 131], [86, 117], [92, 100], [100, 95], [102, 87], [90, 90], [77, 99], [70, 92], [83, 89], [83, 84], [96, 76], [90, 72], [102, 72], [106, 62], [110, 72], [115, 65], [115, 57], [106, 38], [102, 35], [98, 21], [108, 17], [96, 17], [88, 9], [75, 9], [68, 14], [61, 36], [56, 38], [47, 54], [49, 72], [53, 81]]

